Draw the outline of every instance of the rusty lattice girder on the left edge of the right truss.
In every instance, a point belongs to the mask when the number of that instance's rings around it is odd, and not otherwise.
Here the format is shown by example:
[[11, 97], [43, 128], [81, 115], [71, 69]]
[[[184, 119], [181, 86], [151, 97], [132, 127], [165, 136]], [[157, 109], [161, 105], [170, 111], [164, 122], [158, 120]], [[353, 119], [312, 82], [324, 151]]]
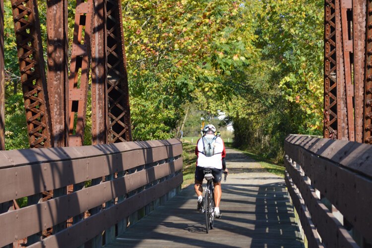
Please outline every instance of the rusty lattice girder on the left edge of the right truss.
[[324, 137], [337, 138], [335, 0], [324, 6]]

